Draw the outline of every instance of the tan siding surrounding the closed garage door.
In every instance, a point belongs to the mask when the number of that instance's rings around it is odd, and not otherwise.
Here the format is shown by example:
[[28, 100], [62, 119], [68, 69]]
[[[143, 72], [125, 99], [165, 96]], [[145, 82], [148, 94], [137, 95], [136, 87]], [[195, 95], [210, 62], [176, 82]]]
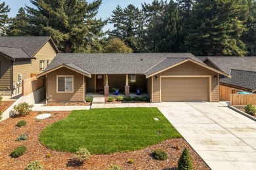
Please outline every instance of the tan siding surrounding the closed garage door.
[[[153, 78], [153, 101], [160, 102], [160, 76], [161, 75], [211, 75], [211, 101], [217, 102], [219, 101], [219, 73], [215, 73], [205, 67], [197, 65], [191, 61], [187, 61], [182, 63], [181, 65], [177, 65], [167, 71], [163, 71], [159, 73], [158, 80]], [[214, 76], [217, 76], [217, 80], [215, 80]], [[155, 77], [154, 76], [154, 77]]]

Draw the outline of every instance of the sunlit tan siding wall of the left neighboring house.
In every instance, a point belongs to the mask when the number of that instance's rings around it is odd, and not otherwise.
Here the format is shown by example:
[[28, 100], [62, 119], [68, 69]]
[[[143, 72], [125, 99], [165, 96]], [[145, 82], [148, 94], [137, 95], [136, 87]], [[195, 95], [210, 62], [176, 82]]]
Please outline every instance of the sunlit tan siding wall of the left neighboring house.
[[18, 82], [18, 75], [22, 74], [22, 79], [30, 78], [30, 74], [39, 74], [42, 71], [39, 70], [39, 62], [45, 61], [45, 68], [47, 67], [47, 59], [49, 63], [56, 56], [53, 45], [47, 42], [38, 52], [35, 54], [36, 59], [31, 60], [18, 60], [13, 62], [13, 80]]

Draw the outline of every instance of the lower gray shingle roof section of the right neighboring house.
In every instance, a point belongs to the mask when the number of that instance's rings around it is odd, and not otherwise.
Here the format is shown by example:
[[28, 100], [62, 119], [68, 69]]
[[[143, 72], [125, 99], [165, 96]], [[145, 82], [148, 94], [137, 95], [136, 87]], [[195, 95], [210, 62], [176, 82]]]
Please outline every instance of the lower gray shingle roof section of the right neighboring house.
[[256, 72], [232, 69], [230, 75], [232, 78], [220, 78], [220, 82], [248, 88], [252, 91], [256, 90]]

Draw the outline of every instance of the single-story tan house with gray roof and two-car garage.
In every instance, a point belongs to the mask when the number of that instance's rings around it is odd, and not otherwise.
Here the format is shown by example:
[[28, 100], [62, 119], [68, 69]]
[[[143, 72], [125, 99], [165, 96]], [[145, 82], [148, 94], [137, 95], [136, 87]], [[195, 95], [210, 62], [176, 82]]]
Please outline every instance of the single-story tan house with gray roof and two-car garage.
[[57, 54], [45, 76], [47, 96], [84, 101], [87, 93], [130, 95], [142, 88], [152, 102], [219, 101], [219, 75], [192, 54]]

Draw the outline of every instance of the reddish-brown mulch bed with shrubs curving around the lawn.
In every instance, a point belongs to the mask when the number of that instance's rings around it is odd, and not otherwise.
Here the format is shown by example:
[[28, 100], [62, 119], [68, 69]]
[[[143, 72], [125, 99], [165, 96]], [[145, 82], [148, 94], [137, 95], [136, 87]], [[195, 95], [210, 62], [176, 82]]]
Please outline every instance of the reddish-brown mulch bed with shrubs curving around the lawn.
[[[38, 112], [31, 112], [26, 117], [9, 118], [0, 122], [0, 169], [24, 169], [30, 161], [35, 160], [40, 161], [44, 169], [106, 169], [110, 165], [120, 165], [123, 169], [177, 169], [177, 161], [184, 148], [188, 148], [190, 152], [194, 169], [209, 169], [184, 139], [167, 140], [134, 152], [93, 155], [81, 167], [67, 167], [68, 158], [71, 158], [74, 154], [50, 150], [39, 143], [39, 133], [46, 126], [65, 118], [70, 112], [51, 112], [51, 114], [51, 118], [41, 120], [41, 122], [37, 122], [35, 119]], [[15, 125], [19, 120], [26, 120], [26, 126], [16, 127]], [[26, 133], [28, 140], [16, 142], [15, 140], [20, 133]], [[22, 145], [27, 147], [26, 153], [19, 158], [11, 158], [9, 156], [11, 151]], [[178, 150], [175, 148], [177, 146]], [[151, 154], [155, 148], [167, 150], [169, 159], [165, 161], [154, 160]], [[51, 153], [51, 158], [45, 158], [47, 153]], [[127, 163], [129, 159], [133, 159], [134, 163]]]

